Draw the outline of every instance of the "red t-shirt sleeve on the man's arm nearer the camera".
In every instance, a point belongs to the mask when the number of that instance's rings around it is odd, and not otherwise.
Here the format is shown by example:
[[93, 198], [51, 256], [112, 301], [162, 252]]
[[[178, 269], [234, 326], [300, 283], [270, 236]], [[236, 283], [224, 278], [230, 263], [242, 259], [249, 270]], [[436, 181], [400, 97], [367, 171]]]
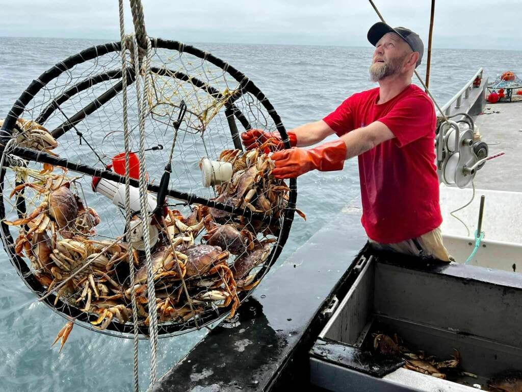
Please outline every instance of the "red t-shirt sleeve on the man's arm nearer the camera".
[[433, 133], [437, 119], [430, 99], [413, 96], [401, 99], [386, 116], [377, 121], [392, 131], [397, 145], [402, 147]]

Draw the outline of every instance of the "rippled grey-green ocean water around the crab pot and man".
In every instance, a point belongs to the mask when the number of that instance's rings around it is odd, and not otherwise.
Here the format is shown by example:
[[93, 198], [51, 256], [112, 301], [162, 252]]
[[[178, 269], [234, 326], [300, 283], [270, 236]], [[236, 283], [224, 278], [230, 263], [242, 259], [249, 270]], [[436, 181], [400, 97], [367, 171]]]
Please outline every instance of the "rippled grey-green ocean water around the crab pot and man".
[[[0, 118], [22, 91], [57, 61], [98, 40], [0, 38]], [[374, 87], [367, 68], [372, 48], [194, 43], [250, 77], [270, 99], [287, 129], [321, 119], [350, 94]], [[491, 78], [522, 75], [520, 51], [434, 49], [431, 91], [442, 106], [483, 67]], [[424, 76], [425, 64], [419, 67]], [[310, 172], [298, 180], [298, 207], [290, 237], [270, 273], [359, 194], [357, 160], [340, 172]], [[342, 240], [342, 239], [341, 239]], [[321, 262], [321, 261], [318, 261]], [[0, 251], [0, 379], [5, 391], [131, 390], [132, 341], [76, 327], [61, 354], [50, 345], [64, 319], [35, 301]], [[161, 339], [158, 374], [167, 371], [205, 331]], [[148, 385], [149, 343], [140, 342], [140, 381]]]

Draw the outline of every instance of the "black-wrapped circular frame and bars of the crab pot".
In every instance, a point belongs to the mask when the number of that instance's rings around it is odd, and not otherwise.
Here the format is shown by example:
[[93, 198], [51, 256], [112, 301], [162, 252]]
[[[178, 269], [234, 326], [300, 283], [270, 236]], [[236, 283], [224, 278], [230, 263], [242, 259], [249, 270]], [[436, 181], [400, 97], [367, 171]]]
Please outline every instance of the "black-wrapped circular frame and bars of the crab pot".
[[[230, 74], [237, 82], [239, 82], [240, 87], [240, 95], [244, 93], [249, 93], [254, 95], [260, 102], [261, 105], [267, 110], [269, 116], [274, 121], [277, 130], [279, 131], [281, 138], [283, 140], [283, 144], [285, 148], [290, 148], [290, 143], [288, 141], [288, 135], [286, 132], [286, 129], [284, 128], [280, 117], [278, 116], [276, 110], [271, 105], [270, 101], [266, 98], [266, 96], [262, 93], [262, 91], [259, 90], [259, 88], [252, 82], [252, 80], [248, 79], [243, 73], [236, 70], [233, 66], [228, 64], [227, 62], [222, 61], [221, 59], [218, 59], [218, 57], [213, 56], [212, 54], [199, 50], [195, 47], [192, 47], [192, 45], [185, 45], [182, 42], [179, 41], [172, 41], [172, 40], [164, 40], [161, 38], [155, 38], [152, 39], [152, 46], [156, 49], [169, 49], [169, 50], [175, 50], [180, 53], [189, 53], [194, 56], [199, 57], [200, 59], [203, 59], [205, 61], [210, 62], [213, 65], [216, 65], [220, 67], [224, 72], [227, 72]], [[56, 77], [60, 76], [62, 73], [66, 72], [70, 68], [74, 67], [75, 65], [81, 64], [83, 62], [95, 59], [96, 57], [102, 56], [104, 54], [110, 53], [110, 52], [116, 52], [121, 50], [121, 44], [120, 42], [110, 42], [105, 43], [101, 45], [96, 45], [91, 48], [88, 48], [84, 51], [79, 52], [78, 54], [75, 54], [73, 56], [68, 57], [62, 62], [57, 63], [53, 67], [51, 67], [48, 71], [45, 71], [42, 73], [38, 78], [34, 79], [32, 83], [27, 87], [25, 91], [20, 95], [20, 97], [16, 100], [13, 107], [10, 109], [4, 124], [2, 126], [2, 130], [0, 134], [1, 137], [1, 144], [0, 144], [0, 153], [2, 153], [2, 159], [4, 159], [6, 154], [13, 154], [13, 155], [19, 155], [23, 156], [26, 159], [35, 160], [36, 162], [45, 162], [45, 159], [59, 162], [62, 166], [67, 166], [69, 169], [81, 172], [82, 174], [86, 175], [93, 175], [93, 170], [96, 170], [97, 174], [100, 174], [101, 177], [111, 177], [112, 173], [103, 171], [103, 169], [94, 169], [87, 167], [86, 165], [78, 165], [78, 164], [70, 164], [70, 162], [67, 159], [56, 159], [50, 156], [46, 156], [47, 154], [31, 151], [24, 148], [14, 148], [6, 150], [7, 142], [11, 139], [11, 135], [13, 132], [13, 128], [15, 126], [16, 120], [21, 117], [21, 114], [26, 108], [26, 105], [31, 101], [31, 99], [38, 94], [38, 92], [44, 88], [51, 80], [55, 79]], [[168, 74], [172, 75], [173, 77], [180, 79], [180, 80], [189, 80], [191, 83], [193, 83], [196, 87], [204, 89], [208, 94], [218, 96], [220, 95], [220, 92], [216, 89], [214, 89], [212, 86], [206, 85], [204, 82], [201, 82], [200, 80], [185, 75], [180, 72], [173, 72], [169, 70], [165, 70], [164, 68], [152, 68], [152, 72], [156, 72], [158, 74]], [[93, 85], [96, 85], [98, 83], [105, 82], [109, 79], [121, 79], [122, 72], [121, 70], [114, 70], [109, 71], [106, 73], [101, 73], [98, 75], [94, 75], [92, 77], [89, 77], [87, 79], [82, 80], [80, 83], [72, 86], [68, 90], [64, 91], [60, 96], [57, 96], [53, 99], [53, 101], [45, 107], [42, 112], [37, 117], [37, 122], [43, 123], [46, 119], [48, 119], [54, 110], [56, 110], [62, 102], [67, 101], [70, 99], [70, 97], [74, 96], [75, 94], [78, 94], [80, 91], [85, 90], [87, 88], [92, 87]], [[127, 75], [127, 80], [132, 83], [134, 80], [133, 71], [129, 71]], [[117, 96], [122, 89], [122, 82], [118, 82], [116, 85], [114, 85], [111, 89], [106, 91], [104, 94], [102, 94], [98, 99], [91, 102], [84, 110], [81, 111], [81, 118], [71, 118], [70, 122], [64, 123], [61, 126], [58, 126], [55, 130], [53, 130], [51, 133], [54, 137], [60, 137], [65, 132], [67, 132], [68, 129], [73, 127], [73, 124], [81, 121], [83, 118], [89, 116], [89, 114], [95, 112], [98, 110], [105, 102], [108, 102], [113, 97]], [[235, 98], [237, 99], [237, 98]], [[247, 119], [243, 115], [243, 113], [234, 105], [234, 102], [231, 101], [228, 103], [226, 107], [226, 113], [227, 116], [230, 116], [232, 114], [235, 118], [239, 120], [239, 122], [242, 124], [243, 128], [245, 130], [250, 129], [250, 124], [248, 123]], [[232, 132], [233, 133], [233, 132]], [[237, 147], [239, 140], [237, 140], [237, 137], [235, 138], [234, 145]], [[23, 151], [25, 150], [25, 151]], [[21, 154], [20, 152], [24, 153]], [[53, 159], [51, 159], [53, 158]], [[6, 160], [7, 163], [7, 160]], [[87, 170], [90, 169], [90, 170]], [[6, 168], [5, 166], [2, 167], [0, 171], [0, 186], [2, 187], [0, 189], [0, 192], [3, 197], [3, 190], [5, 188], [5, 175], [6, 175]], [[113, 176], [114, 177], [114, 176]], [[116, 177], [119, 177], [116, 175]], [[117, 178], [113, 178], [116, 179]], [[294, 212], [295, 212], [295, 201], [297, 198], [297, 187], [296, 187], [296, 180], [290, 179], [290, 192], [289, 192], [289, 200], [288, 200], [288, 206], [284, 210], [284, 213], [282, 215], [282, 224], [280, 228], [280, 232], [278, 235], [278, 242], [272, 248], [272, 251], [269, 256], [269, 261], [267, 261], [262, 269], [260, 269], [257, 273], [256, 278], [262, 279], [263, 276], [266, 274], [266, 272], [270, 269], [271, 266], [274, 265], [275, 261], [277, 260], [278, 256], [281, 253], [281, 250], [286, 243], [288, 239], [288, 235], [290, 232], [290, 227], [293, 221]], [[151, 189], [151, 187], [149, 187]], [[176, 192], [172, 190], [170, 193]], [[194, 200], [193, 200], [194, 199]], [[201, 198], [191, 198], [191, 195], [188, 195], [188, 203], [192, 202], [200, 202], [201, 200], [197, 200]], [[208, 200], [207, 200], [208, 201]], [[219, 203], [211, 203], [213, 207], [220, 208]], [[17, 208], [19, 211], [19, 214], [25, 213], [26, 206], [25, 201], [23, 198], [19, 198], [17, 200]], [[224, 208], [223, 208], [224, 209]], [[235, 211], [237, 212], [237, 211]], [[251, 215], [253, 216], [253, 215]], [[4, 200], [2, 200], [2, 203], [0, 203], [0, 220], [2, 220], [0, 226], [2, 229], [2, 236], [3, 236], [3, 244], [5, 251], [8, 253], [8, 256], [11, 260], [11, 263], [13, 263], [14, 267], [17, 269], [18, 273], [20, 274], [21, 278], [25, 281], [26, 285], [39, 297], [42, 297], [43, 294], [46, 292], [46, 289], [38, 282], [37, 279], [34, 278], [31, 269], [27, 265], [25, 259], [22, 257], [16, 255], [14, 251], [14, 240], [11, 236], [9, 226], [7, 226], [3, 220], [5, 218], [5, 204]], [[250, 294], [252, 293], [252, 290], [248, 292], [241, 292], [239, 293], [240, 301], [243, 302], [244, 299], [246, 299]], [[133, 326], [132, 324], [121, 324], [118, 321], [111, 321], [109, 326], [106, 330], [98, 330], [94, 329], [89, 323], [89, 321], [96, 320], [96, 316], [89, 315], [85, 312], [81, 312], [76, 307], [70, 306], [65, 302], [62, 302], [60, 299], [58, 299], [56, 305], [54, 305], [56, 297], [54, 294], [49, 295], [45, 299], [43, 299], [43, 302], [50, 306], [53, 310], [56, 310], [58, 314], [62, 315], [66, 318], [76, 318], [77, 320], [84, 321], [84, 323], [79, 323], [82, 327], [96, 330], [97, 332], [105, 333], [107, 335], [113, 335], [118, 337], [131, 337], [131, 336], [125, 336], [122, 334], [125, 333], [132, 333]], [[210, 311], [209, 311], [210, 312]], [[219, 319], [222, 319], [224, 316], [226, 316], [229, 313], [228, 309], [221, 309], [218, 308], [216, 312], [209, 313], [208, 315], [205, 315], [203, 317], [198, 317], [198, 324], [197, 327], [201, 328], [203, 326], [206, 326], [208, 324], [211, 324], [212, 322], [215, 322]], [[160, 324], [158, 326], [158, 332], [159, 335], [162, 335], [162, 337], [166, 336], [172, 336], [176, 335], [178, 333], [185, 333], [190, 330], [193, 330], [196, 328], [195, 320], [192, 319], [191, 321], [188, 321], [188, 323], [185, 323], [183, 325], [181, 324]], [[119, 332], [119, 333], [115, 333]], [[139, 327], [139, 333], [141, 335], [147, 336], [149, 334], [148, 327], [141, 325]]]

